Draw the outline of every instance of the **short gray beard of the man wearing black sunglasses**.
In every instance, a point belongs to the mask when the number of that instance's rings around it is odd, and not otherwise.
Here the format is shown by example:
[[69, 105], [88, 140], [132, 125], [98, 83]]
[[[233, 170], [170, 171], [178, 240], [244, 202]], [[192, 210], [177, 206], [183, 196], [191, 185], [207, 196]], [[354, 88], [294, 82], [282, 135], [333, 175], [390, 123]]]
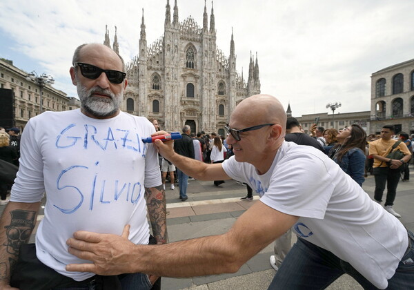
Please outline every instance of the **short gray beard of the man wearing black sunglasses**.
[[[104, 90], [99, 86], [95, 86], [87, 90], [85, 86], [79, 83], [77, 85], [77, 92], [79, 99], [81, 100], [81, 107], [83, 110], [86, 110], [86, 112], [96, 117], [109, 117], [117, 113], [119, 108], [121, 108], [122, 96], [124, 95], [124, 90], [121, 90], [120, 93], [115, 95], [111, 90]], [[93, 97], [93, 93], [106, 94], [110, 96], [110, 99]]]

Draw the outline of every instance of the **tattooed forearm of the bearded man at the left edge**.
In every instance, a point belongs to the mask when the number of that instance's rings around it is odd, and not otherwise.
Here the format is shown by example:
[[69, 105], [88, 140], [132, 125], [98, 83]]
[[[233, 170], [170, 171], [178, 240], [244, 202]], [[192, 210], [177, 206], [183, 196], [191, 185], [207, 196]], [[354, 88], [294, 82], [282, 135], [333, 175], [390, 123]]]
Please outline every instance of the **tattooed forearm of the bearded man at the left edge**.
[[26, 244], [34, 226], [40, 202], [9, 202], [0, 220], [0, 282], [8, 284], [21, 244]]

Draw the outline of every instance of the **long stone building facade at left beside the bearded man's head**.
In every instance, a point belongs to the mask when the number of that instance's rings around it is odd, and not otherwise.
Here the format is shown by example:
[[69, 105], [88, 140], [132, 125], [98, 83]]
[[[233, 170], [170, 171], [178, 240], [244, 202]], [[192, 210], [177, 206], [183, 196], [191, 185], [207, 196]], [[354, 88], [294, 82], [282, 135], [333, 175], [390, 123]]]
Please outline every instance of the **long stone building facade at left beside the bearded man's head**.
[[28, 73], [13, 66], [12, 61], [0, 58], [0, 87], [11, 90], [13, 95], [13, 126], [23, 129], [31, 117], [39, 115], [41, 100], [43, 111], [79, 108], [79, 102], [71, 100], [66, 93], [52, 86], [44, 86], [40, 96], [39, 86], [34, 81], [28, 81], [27, 76]]

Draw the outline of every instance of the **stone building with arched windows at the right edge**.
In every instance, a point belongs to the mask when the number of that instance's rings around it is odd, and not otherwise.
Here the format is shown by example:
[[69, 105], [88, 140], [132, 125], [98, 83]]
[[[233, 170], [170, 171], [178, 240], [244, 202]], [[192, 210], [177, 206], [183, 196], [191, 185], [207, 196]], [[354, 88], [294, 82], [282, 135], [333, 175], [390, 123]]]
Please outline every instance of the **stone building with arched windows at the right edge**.
[[394, 125], [396, 133], [414, 133], [414, 59], [371, 75], [371, 127]]

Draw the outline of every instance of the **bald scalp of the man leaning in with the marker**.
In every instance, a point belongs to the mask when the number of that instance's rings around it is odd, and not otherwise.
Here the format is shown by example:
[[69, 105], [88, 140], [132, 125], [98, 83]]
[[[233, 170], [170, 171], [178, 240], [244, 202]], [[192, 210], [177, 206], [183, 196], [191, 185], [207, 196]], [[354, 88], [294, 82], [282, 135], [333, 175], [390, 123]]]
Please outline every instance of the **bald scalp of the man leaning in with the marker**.
[[279, 124], [286, 131], [286, 113], [278, 99], [271, 95], [254, 95], [240, 102], [230, 120], [243, 120], [246, 127], [259, 124]]

